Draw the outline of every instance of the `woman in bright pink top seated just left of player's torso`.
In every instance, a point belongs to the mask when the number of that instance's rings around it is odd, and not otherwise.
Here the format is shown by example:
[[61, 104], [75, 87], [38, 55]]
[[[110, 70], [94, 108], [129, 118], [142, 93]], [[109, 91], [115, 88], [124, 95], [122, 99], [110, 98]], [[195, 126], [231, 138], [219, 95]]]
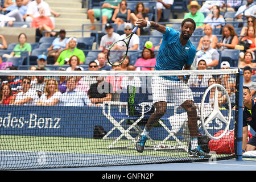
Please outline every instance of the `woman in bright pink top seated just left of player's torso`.
[[[134, 66], [137, 67], [136, 70], [141, 71], [150, 71], [155, 70], [155, 53], [154, 53], [154, 47], [148, 49], [144, 47], [142, 50], [141, 58], [139, 58]], [[146, 67], [145, 67], [146, 66]]]

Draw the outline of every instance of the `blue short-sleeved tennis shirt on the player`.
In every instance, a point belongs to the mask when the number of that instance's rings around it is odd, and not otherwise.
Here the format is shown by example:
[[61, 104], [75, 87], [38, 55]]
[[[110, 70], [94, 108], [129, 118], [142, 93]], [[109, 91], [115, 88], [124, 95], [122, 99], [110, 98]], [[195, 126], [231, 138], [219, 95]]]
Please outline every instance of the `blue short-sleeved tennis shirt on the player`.
[[[195, 59], [196, 48], [190, 40], [183, 47], [180, 43], [180, 32], [166, 27], [162, 44], [156, 57], [155, 70], [181, 70], [185, 63], [191, 65]], [[179, 81], [174, 76], [163, 76], [167, 80]]]

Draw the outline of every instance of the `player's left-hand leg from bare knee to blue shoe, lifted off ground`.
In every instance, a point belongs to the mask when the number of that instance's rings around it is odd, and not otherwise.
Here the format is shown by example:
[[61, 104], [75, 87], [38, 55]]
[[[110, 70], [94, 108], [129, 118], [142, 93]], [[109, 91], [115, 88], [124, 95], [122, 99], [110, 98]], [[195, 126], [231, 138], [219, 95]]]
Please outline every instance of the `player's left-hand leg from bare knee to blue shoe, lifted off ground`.
[[150, 118], [148, 118], [148, 121], [146, 123], [146, 126], [144, 127], [144, 130], [141, 133], [141, 135], [139, 135], [137, 143], [135, 144], [136, 150], [140, 153], [144, 151], [144, 146], [147, 140], [148, 133], [150, 132], [152, 127], [154, 127], [155, 124], [159, 121], [159, 119], [162, 118], [163, 115], [166, 113], [167, 102], [164, 102], [164, 101], [156, 102], [154, 106], [155, 106], [155, 112], [150, 115]]

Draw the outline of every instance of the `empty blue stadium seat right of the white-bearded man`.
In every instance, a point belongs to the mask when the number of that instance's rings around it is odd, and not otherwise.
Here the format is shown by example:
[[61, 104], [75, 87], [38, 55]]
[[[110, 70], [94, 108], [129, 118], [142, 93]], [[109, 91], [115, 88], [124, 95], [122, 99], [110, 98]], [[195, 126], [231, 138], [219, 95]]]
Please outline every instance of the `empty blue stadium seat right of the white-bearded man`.
[[228, 61], [230, 67], [238, 66], [240, 50], [237, 49], [224, 49], [221, 51], [221, 61]]

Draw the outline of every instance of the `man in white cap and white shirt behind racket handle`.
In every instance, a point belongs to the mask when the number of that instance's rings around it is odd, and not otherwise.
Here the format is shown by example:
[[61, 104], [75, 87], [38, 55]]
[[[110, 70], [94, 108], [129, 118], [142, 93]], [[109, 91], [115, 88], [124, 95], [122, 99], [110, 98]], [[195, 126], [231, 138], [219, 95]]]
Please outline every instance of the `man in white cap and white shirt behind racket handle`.
[[[123, 32], [125, 34], [121, 35], [119, 37], [119, 40], [125, 39], [128, 35], [131, 34], [131, 31], [133, 30], [133, 25], [131, 23], [125, 23], [125, 27]], [[139, 36], [136, 34], [133, 34], [131, 37], [130, 43], [129, 43], [129, 50], [139, 50]]]

